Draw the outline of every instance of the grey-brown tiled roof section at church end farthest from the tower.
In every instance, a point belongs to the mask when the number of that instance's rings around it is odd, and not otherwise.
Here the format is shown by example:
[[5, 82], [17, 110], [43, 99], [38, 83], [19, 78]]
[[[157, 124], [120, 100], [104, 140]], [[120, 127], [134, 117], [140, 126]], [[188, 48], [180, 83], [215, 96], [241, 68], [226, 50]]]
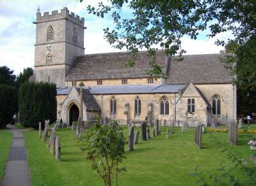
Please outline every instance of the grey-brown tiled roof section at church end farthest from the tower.
[[232, 76], [220, 59], [225, 54], [184, 55], [170, 61], [164, 83], [230, 83]]

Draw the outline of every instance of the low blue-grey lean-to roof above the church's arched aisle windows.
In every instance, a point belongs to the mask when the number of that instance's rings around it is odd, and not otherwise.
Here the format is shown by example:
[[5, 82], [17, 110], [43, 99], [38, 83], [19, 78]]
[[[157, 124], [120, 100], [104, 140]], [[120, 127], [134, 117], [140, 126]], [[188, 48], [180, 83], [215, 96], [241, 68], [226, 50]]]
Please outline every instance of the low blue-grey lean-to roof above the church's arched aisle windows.
[[[90, 90], [92, 94], [154, 94], [154, 93], [177, 93], [183, 90], [186, 85], [115, 85], [115, 86], [97, 86], [83, 87], [84, 90]], [[72, 87], [57, 89], [57, 95], [68, 94]], [[78, 89], [78, 88], [77, 88]], [[90, 96], [90, 95], [89, 95]], [[93, 97], [93, 96], [92, 96]]]

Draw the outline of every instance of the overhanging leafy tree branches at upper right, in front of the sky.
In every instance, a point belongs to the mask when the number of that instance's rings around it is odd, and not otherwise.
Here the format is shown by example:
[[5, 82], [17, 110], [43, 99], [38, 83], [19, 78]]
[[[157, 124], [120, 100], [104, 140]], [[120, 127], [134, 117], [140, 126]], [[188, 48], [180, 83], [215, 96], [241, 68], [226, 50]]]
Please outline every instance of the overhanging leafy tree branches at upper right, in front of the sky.
[[[80, 0], [83, 1], [83, 0]], [[132, 14], [124, 17], [122, 8], [127, 7]], [[111, 0], [110, 5], [99, 3], [98, 7], [87, 7], [88, 13], [104, 18], [107, 13], [113, 18], [114, 29], [104, 29], [107, 41], [115, 48], [126, 48], [133, 56], [138, 50], [151, 51], [165, 48], [170, 55], [182, 55], [181, 38], [196, 39], [201, 31], [209, 29], [207, 36], [214, 37], [221, 32], [231, 31], [234, 39], [228, 43], [239, 44], [236, 73], [243, 79], [255, 81], [255, 29], [256, 4], [253, 0], [242, 1], [159, 1], [159, 0]], [[127, 14], [125, 14], [127, 15]], [[250, 39], [249, 43], [247, 43]], [[225, 45], [216, 41], [216, 45]], [[248, 50], [248, 45], [252, 50]], [[160, 48], [155, 47], [160, 46]], [[227, 46], [228, 47], [228, 46]], [[231, 46], [229, 46], [231, 47]], [[234, 46], [232, 46], [234, 47]], [[232, 48], [231, 47], [231, 48]], [[230, 52], [230, 48], [227, 48]], [[251, 54], [248, 54], [251, 51]], [[232, 52], [232, 49], [231, 49]], [[248, 55], [247, 55], [247, 54]], [[242, 55], [243, 54], [243, 55]], [[245, 55], [246, 54], [246, 55]], [[135, 55], [136, 56], [136, 55]], [[240, 57], [239, 57], [240, 56]], [[245, 57], [246, 59], [244, 59]], [[240, 64], [239, 64], [239, 61]], [[129, 62], [131, 64], [131, 62]], [[156, 61], [150, 61], [149, 74], [163, 76]], [[244, 86], [244, 80], [236, 81]], [[247, 86], [247, 85], [246, 85]], [[255, 89], [255, 83], [249, 87]], [[251, 89], [252, 90], [252, 89]]]

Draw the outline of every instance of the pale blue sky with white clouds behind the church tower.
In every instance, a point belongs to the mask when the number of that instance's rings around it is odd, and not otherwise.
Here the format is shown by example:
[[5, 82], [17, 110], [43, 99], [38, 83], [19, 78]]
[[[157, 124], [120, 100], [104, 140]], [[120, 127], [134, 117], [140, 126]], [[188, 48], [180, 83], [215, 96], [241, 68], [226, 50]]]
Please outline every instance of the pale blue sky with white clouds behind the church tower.
[[[104, 3], [108, 1], [102, 0]], [[14, 1], [0, 0], [0, 66], [8, 66], [14, 70], [15, 75], [19, 75], [24, 68], [34, 66], [35, 58], [35, 34], [36, 10], [40, 7], [41, 15], [45, 11], [60, 10], [67, 7], [69, 11], [74, 12], [80, 17], [84, 17], [84, 24], [87, 29], [84, 30], [84, 48], [85, 54], [99, 54], [106, 52], [126, 51], [111, 47], [104, 40], [104, 31], [106, 27], [111, 27], [113, 21], [111, 17], [99, 18], [88, 14], [86, 6], [88, 4], [97, 6], [100, 1], [84, 0], [80, 3], [78, 0], [70, 1]], [[129, 12], [124, 8], [124, 15], [127, 17]], [[214, 44], [217, 38], [227, 39], [231, 37], [228, 32], [221, 33], [215, 38], [207, 38], [205, 31], [196, 40], [189, 37], [182, 38], [182, 48], [186, 50], [186, 55], [193, 54], [216, 54], [223, 47]]]

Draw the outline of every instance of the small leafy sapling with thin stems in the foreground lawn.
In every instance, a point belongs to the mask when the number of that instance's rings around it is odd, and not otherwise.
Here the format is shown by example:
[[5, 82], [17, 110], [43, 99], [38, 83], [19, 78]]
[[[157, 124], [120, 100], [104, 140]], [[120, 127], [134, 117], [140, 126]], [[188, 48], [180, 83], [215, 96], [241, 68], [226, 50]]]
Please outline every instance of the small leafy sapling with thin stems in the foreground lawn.
[[115, 122], [109, 125], [96, 124], [85, 132], [84, 148], [86, 158], [92, 161], [95, 169], [104, 180], [105, 185], [113, 183], [113, 176], [118, 185], [118, 173], [125, 168], [118, 168], [124, 156], [124, 135], [122, 127]]

